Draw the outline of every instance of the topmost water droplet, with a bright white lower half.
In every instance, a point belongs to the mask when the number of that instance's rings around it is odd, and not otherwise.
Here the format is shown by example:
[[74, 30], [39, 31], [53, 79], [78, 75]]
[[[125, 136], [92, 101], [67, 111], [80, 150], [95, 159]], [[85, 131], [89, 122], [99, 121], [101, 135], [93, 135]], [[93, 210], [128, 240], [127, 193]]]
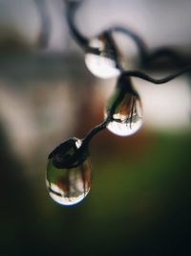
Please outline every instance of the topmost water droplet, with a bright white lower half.
[[[117, 77], [120, 73], [117, 61], [118, 52], [111, 35], [106, 33], [90, 40], [90, 50], [85, 55], [88, 69], [101, 79]], [[96, 49], [97, 53], [91, 51]]]

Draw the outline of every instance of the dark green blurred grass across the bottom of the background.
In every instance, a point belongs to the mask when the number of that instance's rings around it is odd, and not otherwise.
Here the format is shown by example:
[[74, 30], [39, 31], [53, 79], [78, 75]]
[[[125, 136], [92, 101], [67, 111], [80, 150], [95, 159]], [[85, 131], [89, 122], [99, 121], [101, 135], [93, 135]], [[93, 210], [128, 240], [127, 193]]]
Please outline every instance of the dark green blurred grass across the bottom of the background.
[[30, 186], [14, 179], [25, 193], [10, 199], [4, 189], [2, 248], [14, 255], [189, 255], [190, 134], [118, 140], [113, 149], [92, 146], [92, 190], [74, 207], [48, 197], [44, 175]]

